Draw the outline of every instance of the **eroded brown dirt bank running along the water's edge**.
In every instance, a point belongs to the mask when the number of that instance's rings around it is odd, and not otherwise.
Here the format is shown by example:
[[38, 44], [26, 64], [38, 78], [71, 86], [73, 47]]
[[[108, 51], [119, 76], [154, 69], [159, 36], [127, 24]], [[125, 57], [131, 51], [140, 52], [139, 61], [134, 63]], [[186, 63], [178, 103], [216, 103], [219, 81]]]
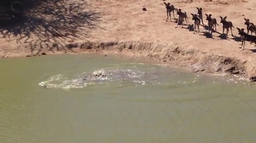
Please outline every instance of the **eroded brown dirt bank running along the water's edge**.
[[[38, 48], [37, 48], [38, 49]], [[69, 43], [67, 47], [59, 51], [56, 48], [38, 49], [31, 54], [24, 52], [17, 54], [6, 53], [1, 57], [32, 57], [47, 54], [77, 54], [97, 53], [104, 55], [124, 55], [147, 60], [160, 61], [170, 66], [188, 67], [194, 72], [201, 73], [229, 73], [237, 74], [256, 82], [256, 66], [247, 60], [234, 57], [215, 55], [206, 51], [159, 42], [84, 42]], [[8, 56], [6, 56], [8, 55]]]

